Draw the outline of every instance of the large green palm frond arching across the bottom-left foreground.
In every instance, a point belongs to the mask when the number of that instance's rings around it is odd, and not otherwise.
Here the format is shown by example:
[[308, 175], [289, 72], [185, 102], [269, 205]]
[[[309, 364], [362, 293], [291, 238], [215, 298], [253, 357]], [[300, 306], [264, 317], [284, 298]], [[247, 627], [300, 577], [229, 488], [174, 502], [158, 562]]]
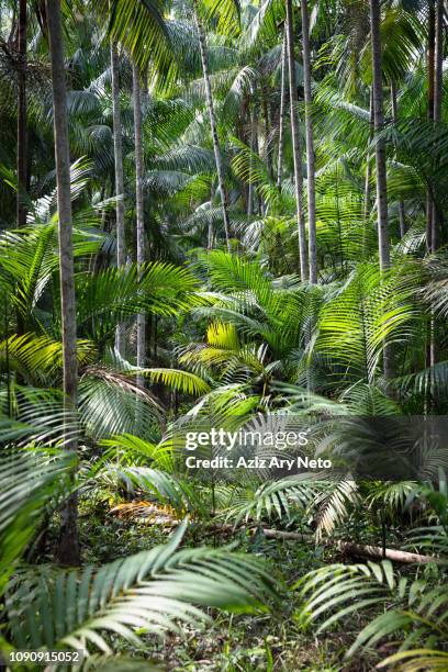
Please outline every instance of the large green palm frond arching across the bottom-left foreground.
[[164, 635], [180, 623], [206, 623], [199, 606], [247, 611], [275, 594], [256, 559], [228, 550], [179, 549], [186, 527], [164, 546], [100, 569], [59, 572], [53, 581], [37, 574], [27, 600], [15, 589], [7, 597], [14, 646], [109, 653], [111, 635], [138, 647], [137, 630]]

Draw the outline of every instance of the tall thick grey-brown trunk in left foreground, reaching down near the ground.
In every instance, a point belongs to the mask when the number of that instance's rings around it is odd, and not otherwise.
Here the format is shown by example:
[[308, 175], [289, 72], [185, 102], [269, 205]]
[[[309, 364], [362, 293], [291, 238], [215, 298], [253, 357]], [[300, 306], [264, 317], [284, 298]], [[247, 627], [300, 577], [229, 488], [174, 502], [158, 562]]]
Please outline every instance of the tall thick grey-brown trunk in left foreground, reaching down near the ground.
[[[60, 313], [63, 322], [64, 393], [66, 411], [77, 405], [77, 344], [75, 270], [71, 232], [70, 149], [68, 142], [66, 82], [64, 67], [60, 0], [46, 0], [49, 53], [52, 60], [53, 115], [55, 134], [57, 209], [59, 217]], [[72, 435], [71, 435], [72, 436]], [[77, 450], [77, 439], [68, 448]], [[58, 559], [64, 564], [79, 563], [78, 501], [72, 494], [60, 512]]]

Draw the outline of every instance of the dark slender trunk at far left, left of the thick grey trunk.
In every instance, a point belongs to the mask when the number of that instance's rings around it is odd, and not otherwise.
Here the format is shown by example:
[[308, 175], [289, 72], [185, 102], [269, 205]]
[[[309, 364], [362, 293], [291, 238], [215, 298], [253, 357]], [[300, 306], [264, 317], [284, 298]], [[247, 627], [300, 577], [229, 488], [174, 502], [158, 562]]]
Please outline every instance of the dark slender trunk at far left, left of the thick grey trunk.
[[18, 68], [18, 226], [26, 225], [26, 0], [19, 0]]

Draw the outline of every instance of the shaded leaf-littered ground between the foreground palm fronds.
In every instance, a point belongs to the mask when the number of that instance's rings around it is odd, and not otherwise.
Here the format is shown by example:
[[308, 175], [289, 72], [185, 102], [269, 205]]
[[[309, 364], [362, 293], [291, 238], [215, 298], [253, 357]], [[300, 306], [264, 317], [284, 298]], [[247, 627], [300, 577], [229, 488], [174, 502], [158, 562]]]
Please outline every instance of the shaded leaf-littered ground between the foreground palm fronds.
[[[116, 518], [101, 505], [92, 512], [90, 503], [88, 511], [80, 518], [85, 563], [101, 564], [153, 548], [165, 542], [170, 531], [158, 525]], [[240, 550], [264, 557], [282, 586], [280, 604], [255, 614], [211, 612], [213, 618], [205, 629], [182, 627], [163, 641], [143, 636], [144, 650], [130, 651], [128, 642], [123, 641], [123, 652], [144, 657], [160, 670], [173, 672], [363, 672], [378, 663], [378, 651], [372, 657], [344, 659], [367, 623], [365, 618], [371, 614], [363, 613], [362, 620], [356, 614], [325, 635], [317, 635], [317, 626], [310, 628], [301, 621], [300, 595], [291, 586], [307, 571], [343, 560], [334, 550], [298, 541], [268, 540], [261, 534], [249, 536], [246, 531], [232, 537], [211, 535], [203, 528], [197, 528], [186, 539], [187, 545], [198, 542], [209, 546], [236, 542]], [[114, 643], [120, 651], [120, 640]]]

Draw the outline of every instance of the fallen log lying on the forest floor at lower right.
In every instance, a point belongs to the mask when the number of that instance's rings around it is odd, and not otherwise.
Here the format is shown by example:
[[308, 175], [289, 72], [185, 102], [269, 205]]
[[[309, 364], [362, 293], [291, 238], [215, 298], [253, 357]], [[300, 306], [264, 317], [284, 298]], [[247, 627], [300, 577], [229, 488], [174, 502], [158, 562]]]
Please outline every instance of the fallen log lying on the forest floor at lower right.
[[[306, 542], [315, 541], [315, 538], [312, 535], [302, 535], [301, 533], [290, 533], [279, 529], [265, 528], [262, 528], [262, 531], [267, 539], [290, 539], [292, 541]], [[380, 546], [362, 546], [360, 544], [352, 544], [351, 541], [339, 541], [337, 539], [325, 539], [322, 544], [324, 546], [334, 547], [343, 553], [347, 553], [348, 556], [355, 556], [358, 558], [371, 558], [374, 560], [387, 559], [391, 560], [392, 562], [401, 562], [402, 564], [412, 564], [414, 562], [441, 562], [438, 558], [434, 558], [433, 556], [410, 553], [407, 551], [401, 551], [394, 548], [382, 549]]]

